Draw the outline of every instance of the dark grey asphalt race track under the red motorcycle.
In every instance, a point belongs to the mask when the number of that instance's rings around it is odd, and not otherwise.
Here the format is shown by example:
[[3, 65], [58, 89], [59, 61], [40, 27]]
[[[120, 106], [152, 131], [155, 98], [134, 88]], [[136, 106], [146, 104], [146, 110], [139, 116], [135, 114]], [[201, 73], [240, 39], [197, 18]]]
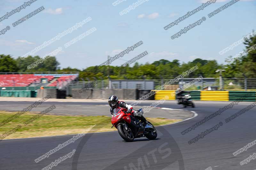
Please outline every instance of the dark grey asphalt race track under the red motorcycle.
[[[32, 104], [33, 102], [0, 102], [1, 105]], [[106, 103], [74, 103], [45, 102], [57, 105], [104, 105]], [[146, 138], [135, 139], [132, 143], [122, 140], [118, 132], [89, 133], [74, 143], [53, 153], [48, 158], [36, 163], [34, 160], [69, 140], [73, 135], [56, 137], [39, 137], [27, 139], [2, 140], [0, 142], [0, 169], [41, 170], [55, 159], [58, 159], [76, 149], [75, 155], [60, 162], [51, 169], [156, 169], [156, 170], [254, 170], [256, 160], [252, 159], [244, 165], [240, 162], [256, 152], [252, 146], [237, 156], [232, 153], [256, 139], [256, 109], [239, 115], [226, 123], [225, 119], [247, 107], [249, 103], [239, 103], [220, 115], [203, 123], [195, 130], [185, 135], [181, 131], [194, 125], [220, 108], [231, 102], [197, 102], [196, 108], [186, 108], [195, 111], [198, 116], [184, 122], [157, 127], [157, 140]], [[150, 105], [151, 102], [143, 103]], [[159, 107], [180, 109], [175, 102], [165, 102]], [[79, 108], [77, 108], [79, 109]], [[182, 108], [181, 108], [182, 109]], [[201, 134], [206, 129], [223, 123], [195, 143], [188, 141]], [[46, 169], [46, 168], [45, 168]], [[48, 168], [50, 169], [50, 168]]]

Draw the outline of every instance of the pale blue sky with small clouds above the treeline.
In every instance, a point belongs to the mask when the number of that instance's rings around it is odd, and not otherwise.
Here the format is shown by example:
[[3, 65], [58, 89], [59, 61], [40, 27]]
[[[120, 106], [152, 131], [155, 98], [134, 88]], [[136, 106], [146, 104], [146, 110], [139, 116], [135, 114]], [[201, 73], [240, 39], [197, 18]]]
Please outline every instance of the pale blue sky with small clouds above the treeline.
[[[1, 0], [0, 17], [24, 2], [24, 0]], [[56, 55], [61, 68], [70, 66], [83, 69], [100, 65], [107, 60], [107, 55], [114, 56], [128, 46], [143, 41], [140, 47], [125, 54], [111, 65], [122, 65], [145, 50], [149, 55], [141, 58], [139, 63], [152, 63], [160, 59], [170, 61], [178, 59], [182, 63], [195, 58], [215, 59], [218, 63], [225, 63], [225, 58], [242, 51], [244, 45], [240, 44], [224, 55], [220, 55], [219, 51], [256, 29], [255, 0], [240, 0], [209, 18], [207, 16], [209, 13], [229, 2], [218, 0], [168, 30], [164, 30], [164, 26], [207, 0], [149, 0], [124, 15], [119, 15], [119, 12], [137, 0], [126, 0], [116, 6], [112, 5], [114, 2], [115, 0], [37, 0], [26, 9], [0, 22], [0, 30], [6, 26], [11, 27], [5, 34], [0, 35], [0, 54], [10, 54], [14, 58], [25, 55], [44, 41], [49, 41], [76, 23], [91, 17], [92, 21], [38, 51], [35, 55], [44, 56], [62, 47], [63, 51]], [[18, 26], [12, 26], [13, 22], [41, 6], [44, 6], [44, 11]], [[182, 34], [179, 38], [171, 39], [171, 36], [180, 29], [202, 17], [206, 17], [206, 21], [201, 25]], [[72, 46], [64, 48], [65, 43], [92, 27], [96, 27], [97, 31]]]

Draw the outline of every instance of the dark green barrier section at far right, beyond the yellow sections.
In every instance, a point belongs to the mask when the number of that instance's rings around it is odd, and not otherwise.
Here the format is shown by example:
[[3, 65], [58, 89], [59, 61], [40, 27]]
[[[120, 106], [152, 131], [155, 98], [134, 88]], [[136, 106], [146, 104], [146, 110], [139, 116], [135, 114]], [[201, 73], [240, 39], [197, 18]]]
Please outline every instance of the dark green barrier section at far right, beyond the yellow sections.
[[236, 101], [242, 97], [245, 97], [243, 101], [256, 101], [256, 92], [235, 92], [229, 91], [229, 101]]

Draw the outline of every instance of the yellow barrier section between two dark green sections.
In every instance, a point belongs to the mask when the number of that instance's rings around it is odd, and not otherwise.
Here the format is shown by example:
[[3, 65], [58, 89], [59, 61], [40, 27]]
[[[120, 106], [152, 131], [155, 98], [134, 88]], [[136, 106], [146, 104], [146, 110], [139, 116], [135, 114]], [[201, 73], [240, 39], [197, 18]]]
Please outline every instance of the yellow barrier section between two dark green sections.
[[228, 91], [201, 91], [200, 100], [203, 101], [229, 101]]

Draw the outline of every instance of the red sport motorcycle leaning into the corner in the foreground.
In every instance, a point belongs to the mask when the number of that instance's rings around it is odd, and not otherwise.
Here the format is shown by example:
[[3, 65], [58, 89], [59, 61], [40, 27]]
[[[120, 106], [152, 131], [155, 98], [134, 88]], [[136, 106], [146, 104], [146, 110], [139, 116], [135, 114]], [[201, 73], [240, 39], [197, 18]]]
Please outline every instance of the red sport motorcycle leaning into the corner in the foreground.
[[[142, 123], [133, 116], [132, 113], [126, 113], [127, 109], [116, 108], [114, 109], [114, 114], [111, 119], [112, 128], [118, 130], [119, 135], [127, 142], [132, 142], [134, 138], [147, 137], [150, 140], [156, 139], [157, 132], [156, 128], [148, 122], [145, 127]], [[137, 110], [141, 112], [142, 109]]]

